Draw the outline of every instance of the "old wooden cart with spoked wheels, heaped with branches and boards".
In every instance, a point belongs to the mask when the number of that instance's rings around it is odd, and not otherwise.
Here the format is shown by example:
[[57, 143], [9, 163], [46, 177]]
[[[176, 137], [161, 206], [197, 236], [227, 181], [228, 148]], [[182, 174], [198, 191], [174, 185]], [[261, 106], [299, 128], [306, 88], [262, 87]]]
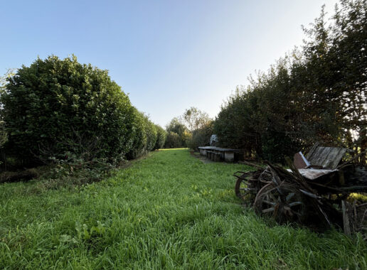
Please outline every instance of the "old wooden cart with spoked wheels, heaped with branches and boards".
[[367, 192], [367, 171], [339, 164], [346, 151], [315, 145], [307, 158], [302, 153], [294, 162], [287, 158], [287, 170], [267, 162], [257, 171], [236, 172], [235, 193], [277, 222], [339, 225], [347, 234], [361, 231], [366, 229], [367, 205], [346, 198]]

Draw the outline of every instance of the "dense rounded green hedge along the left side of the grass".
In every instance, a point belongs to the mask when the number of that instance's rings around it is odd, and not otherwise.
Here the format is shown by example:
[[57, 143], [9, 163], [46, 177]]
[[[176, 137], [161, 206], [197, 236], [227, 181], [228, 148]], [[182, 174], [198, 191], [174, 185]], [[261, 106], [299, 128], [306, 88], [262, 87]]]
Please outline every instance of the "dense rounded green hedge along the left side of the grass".
[[1, 88], [2, 162], [34, 166], [74, 156], [117, 163], [162, 148], [166, 131], [139, 112], [107, 70], [38, 58]]

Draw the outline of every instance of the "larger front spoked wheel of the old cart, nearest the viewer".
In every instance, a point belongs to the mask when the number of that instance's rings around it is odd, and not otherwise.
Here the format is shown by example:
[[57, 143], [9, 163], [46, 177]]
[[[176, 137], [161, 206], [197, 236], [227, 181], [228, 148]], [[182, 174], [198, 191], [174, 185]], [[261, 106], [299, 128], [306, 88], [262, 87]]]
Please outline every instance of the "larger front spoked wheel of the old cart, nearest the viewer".
[[307, 202], [304, 195], [292, 185], [273, 183], [263, 186], [256, 195], [254, 208], [261, 215], [274, 217], [277, 222], [304, 222], [307, 220]]

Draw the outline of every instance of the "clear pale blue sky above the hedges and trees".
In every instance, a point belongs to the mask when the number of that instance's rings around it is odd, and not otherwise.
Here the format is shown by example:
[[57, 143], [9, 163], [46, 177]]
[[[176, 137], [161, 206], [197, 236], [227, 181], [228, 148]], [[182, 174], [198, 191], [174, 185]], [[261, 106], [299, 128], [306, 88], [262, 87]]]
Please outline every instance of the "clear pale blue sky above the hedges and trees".
[[302, 45], [323, 4], [332, 14], [335, 0], [0, 0], [0, 74], [74, 54], [156, 124], [189, 107], [214, 118], [255, 70]]

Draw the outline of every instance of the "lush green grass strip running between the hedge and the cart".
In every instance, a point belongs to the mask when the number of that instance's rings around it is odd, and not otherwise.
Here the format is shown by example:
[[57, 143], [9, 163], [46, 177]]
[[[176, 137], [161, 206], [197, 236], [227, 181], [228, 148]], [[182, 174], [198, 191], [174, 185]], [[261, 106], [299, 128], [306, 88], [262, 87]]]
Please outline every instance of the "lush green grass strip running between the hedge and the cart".
[[241, 206], [231, 175], [244, 167], [172, 149], [75, 190], [0, 185], [0, 269], [367, 269], [358, 235]]

